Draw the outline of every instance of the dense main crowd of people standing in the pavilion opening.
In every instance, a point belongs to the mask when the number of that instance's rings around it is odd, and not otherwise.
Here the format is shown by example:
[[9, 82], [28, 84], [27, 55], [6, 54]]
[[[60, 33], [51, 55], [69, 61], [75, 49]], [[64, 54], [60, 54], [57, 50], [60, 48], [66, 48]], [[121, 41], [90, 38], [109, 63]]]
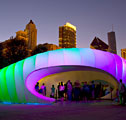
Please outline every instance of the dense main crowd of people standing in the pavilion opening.
[[79, 80], [76, 80], [74, 84], [72, 84], [72, 82], [68, 80], [66, 84], [63, 84], [63, 82], [59, 83], [58, 98], [61, 100], [66, 99], [69, 101], [88, 101], [89, 99], [100, 97], [101, 88], [101, 83], [95, 85], [94, 81], [92, 81], [89, 85], [86, 81], [80, 83]]

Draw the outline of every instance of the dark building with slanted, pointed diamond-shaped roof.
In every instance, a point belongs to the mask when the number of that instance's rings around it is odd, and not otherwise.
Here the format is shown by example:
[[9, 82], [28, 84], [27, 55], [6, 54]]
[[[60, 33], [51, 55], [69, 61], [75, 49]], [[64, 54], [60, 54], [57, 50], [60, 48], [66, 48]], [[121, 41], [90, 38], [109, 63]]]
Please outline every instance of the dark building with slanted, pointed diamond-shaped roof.
[[98, 37], [95, 37], [90, 44], [90, 48], [102, 51], [108, 51], [109, 46], [105, 42], [100, 40]]

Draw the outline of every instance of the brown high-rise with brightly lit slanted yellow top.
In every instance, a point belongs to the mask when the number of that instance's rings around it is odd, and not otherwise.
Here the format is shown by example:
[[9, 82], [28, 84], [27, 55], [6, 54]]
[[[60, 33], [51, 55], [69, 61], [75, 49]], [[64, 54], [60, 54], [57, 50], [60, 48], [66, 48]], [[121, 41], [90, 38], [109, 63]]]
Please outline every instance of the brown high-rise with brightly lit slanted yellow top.
[[76, 48], [76, 26], [67, 22], [59, 27], [59, 47]]

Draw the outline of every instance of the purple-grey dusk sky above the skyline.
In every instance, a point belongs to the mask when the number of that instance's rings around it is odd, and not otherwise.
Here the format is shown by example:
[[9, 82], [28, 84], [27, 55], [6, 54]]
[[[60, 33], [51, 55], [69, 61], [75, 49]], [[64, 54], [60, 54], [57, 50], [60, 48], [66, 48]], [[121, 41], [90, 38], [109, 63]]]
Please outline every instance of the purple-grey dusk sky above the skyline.
[[87, 48], [95, 36], [108, 43], [107, 32], [116, 33], [117, 49], [126, 48], [126, 0], [0, 0], [0, 41], [24, 30], [32, 19], [38, 44], [58, 45], [59, 26], [77, 27], [77, 47]]

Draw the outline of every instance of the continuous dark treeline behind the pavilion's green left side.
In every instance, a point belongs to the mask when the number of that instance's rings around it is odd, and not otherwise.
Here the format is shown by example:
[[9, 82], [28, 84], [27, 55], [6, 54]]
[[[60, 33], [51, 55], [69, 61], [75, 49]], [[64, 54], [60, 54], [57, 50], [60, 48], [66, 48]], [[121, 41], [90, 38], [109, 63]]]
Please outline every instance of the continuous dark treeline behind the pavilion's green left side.
[[39, 44], [34, 50], [30, 50], [26, 40], [18, 40], [17, 38], [0, 43], [0, 69], [31, 55], [48, 51], [46, 45], [48, 43]]

